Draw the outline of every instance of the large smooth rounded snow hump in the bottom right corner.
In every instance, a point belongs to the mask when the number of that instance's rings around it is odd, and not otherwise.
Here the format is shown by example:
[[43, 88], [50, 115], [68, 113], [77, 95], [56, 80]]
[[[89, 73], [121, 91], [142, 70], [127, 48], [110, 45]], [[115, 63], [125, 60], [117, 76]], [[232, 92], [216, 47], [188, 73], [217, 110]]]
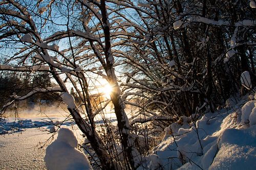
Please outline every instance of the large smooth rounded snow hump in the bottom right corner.
[[220, 140], [220, 150], [209, 169], [254, 169], [256, 167], [255, 129], [253, 127], [246, 130], [225, 130]]

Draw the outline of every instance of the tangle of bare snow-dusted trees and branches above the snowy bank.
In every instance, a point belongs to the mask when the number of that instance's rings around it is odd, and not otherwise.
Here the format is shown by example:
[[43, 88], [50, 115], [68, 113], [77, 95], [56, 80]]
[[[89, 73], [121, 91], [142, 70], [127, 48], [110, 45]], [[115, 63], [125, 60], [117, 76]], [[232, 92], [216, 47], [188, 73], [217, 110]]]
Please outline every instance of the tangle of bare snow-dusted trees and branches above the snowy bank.
[[[239, 95], [243, 71], [254, 84], [255, 16], [245, 0], [1, 1], [0, 70], [45, 72], [58, 85], [17, 91], [5, 107], [59, 92], [96, 163], [136, 169], [154, 146], [150, 135], [181, 116], [224, 107]], [[101, 79], [112, 86], [111, 99], [93, 108]], [[95, 116], [108, 104], [117, 127], [98, 127]], [[137, 109], [128, 118], [129, 105]]]

